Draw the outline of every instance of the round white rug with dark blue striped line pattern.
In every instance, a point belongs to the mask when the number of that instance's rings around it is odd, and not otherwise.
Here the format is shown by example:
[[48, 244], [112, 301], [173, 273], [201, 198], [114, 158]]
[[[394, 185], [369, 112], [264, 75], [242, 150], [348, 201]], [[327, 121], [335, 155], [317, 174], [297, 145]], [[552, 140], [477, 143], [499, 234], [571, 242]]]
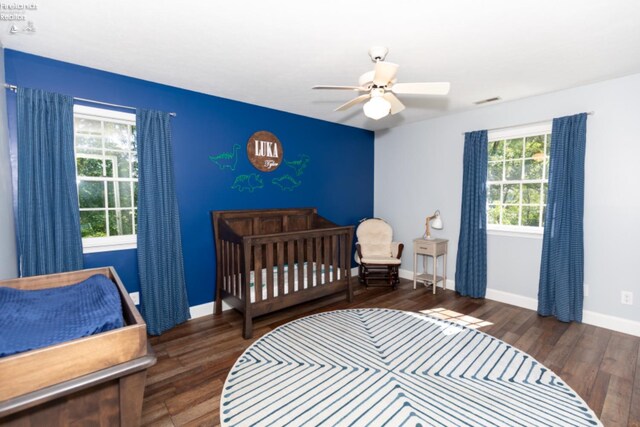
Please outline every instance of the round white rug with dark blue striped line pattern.
[[430, 316], [332, 311], [265, 335], [231, 369], [224, 426], [600, 426], [511, 345]]

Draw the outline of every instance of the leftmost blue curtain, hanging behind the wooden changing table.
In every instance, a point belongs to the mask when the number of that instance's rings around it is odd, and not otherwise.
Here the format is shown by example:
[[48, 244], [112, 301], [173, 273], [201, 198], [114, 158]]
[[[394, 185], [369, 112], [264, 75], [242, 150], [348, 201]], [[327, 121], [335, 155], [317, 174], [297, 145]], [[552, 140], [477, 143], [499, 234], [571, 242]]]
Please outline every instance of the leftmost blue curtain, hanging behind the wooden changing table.
[[82, 268], [73, 98], [18, 88], [18, 250], [22, 276]]

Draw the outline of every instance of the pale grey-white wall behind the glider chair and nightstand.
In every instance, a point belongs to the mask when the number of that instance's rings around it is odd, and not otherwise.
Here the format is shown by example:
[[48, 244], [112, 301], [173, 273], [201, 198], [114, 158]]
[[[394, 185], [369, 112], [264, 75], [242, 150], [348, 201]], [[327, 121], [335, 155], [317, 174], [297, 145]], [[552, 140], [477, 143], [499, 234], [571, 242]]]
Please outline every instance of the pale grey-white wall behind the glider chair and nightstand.
[[[454, 278], [463, 132], [594, 111], [587, 120], [585, 310], [640, 321], [639, 95], [636, 74], [377, 132], [374, 212], [405, 242], [401, 268], [412, 269], [412, 240], [440, 209], [445, 227], [432, 234], [450, 239]], [[537, 298], [541, 251], [541, 239], [489, 235], [488, 287]], [[634, 293], [634, 305], [620, 303], [622, 290]]]

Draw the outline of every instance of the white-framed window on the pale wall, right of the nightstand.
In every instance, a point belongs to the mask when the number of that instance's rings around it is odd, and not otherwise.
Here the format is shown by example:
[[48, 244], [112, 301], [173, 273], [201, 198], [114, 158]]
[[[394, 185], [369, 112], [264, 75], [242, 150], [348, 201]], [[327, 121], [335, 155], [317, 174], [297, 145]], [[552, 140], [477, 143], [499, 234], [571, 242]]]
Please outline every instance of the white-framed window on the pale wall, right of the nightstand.
[[542, 233], [551, 123], [489, 132], [487, 228]]

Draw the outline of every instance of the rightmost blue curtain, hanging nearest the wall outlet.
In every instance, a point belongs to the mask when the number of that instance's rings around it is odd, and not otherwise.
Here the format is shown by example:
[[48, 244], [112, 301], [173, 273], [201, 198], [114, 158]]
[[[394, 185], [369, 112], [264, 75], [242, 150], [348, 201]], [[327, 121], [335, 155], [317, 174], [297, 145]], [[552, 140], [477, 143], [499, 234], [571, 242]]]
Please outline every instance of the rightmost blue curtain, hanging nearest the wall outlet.
[[587, 114], [553, 119], [538, 313], [582, 321]]

